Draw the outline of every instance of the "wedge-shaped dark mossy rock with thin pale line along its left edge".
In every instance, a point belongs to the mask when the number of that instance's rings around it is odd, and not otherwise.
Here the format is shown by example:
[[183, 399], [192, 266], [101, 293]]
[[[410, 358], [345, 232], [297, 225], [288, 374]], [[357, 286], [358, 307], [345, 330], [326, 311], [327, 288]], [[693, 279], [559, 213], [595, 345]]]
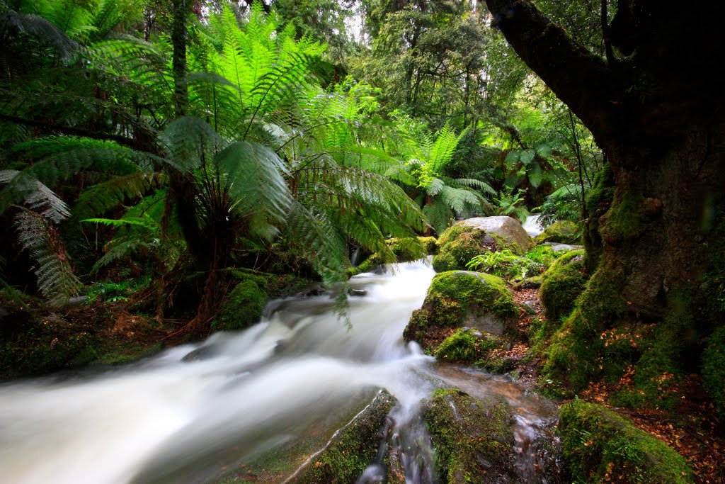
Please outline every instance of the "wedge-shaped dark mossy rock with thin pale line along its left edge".
[[380, 430], [397, 403], [381, 390], [368, 407], [344, 427], [330, 444], [290, 483], [354, 483], [368, 464], [375, 462], [381, 443]]

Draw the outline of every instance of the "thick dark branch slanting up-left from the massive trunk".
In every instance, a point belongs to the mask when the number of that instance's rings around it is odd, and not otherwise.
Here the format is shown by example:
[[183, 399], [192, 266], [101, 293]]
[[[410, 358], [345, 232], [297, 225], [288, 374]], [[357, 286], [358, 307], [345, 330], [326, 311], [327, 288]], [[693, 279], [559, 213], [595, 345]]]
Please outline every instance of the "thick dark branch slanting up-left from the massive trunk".
[[573, 43], [529, 0], [486, 0], [519, 57], [567, 104], [597, 139], [609, 137], [620, 98], [606, 62]]

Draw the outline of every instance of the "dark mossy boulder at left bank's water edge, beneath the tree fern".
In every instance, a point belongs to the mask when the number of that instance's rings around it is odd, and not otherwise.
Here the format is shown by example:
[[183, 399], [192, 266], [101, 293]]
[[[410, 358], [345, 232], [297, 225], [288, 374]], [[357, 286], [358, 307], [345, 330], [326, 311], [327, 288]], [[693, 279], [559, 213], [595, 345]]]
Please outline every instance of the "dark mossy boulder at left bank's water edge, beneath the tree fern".
[[237, 269], [233, 276], [239, 281], [223, 301], [212, 321], [214, 331], [233, 331], [252, 326], [262, 317], [267, 301], [299, 292], [309, 284], [295, 276], [265, 274], [251, 269]]

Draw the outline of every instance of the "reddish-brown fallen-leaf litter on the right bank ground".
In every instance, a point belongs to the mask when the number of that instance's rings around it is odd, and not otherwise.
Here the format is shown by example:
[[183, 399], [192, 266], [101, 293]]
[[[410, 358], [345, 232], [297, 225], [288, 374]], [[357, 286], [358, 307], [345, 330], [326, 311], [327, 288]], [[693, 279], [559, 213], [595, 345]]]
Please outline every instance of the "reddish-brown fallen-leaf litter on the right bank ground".
[[[529, 325], [534, 319], [545, 318], [542, 306], [538, 303], [539, 290], [514, 289], [513, 297], [522, 308], [519, 315], [519, 332], [527, 335]], [[523, 308], [523, 303], [526, 301], [537, 301], [532, 304], [536, 313]], [[526, 343], [517, 343], [508, 351], [501, 350], [501, 354], [497, 357], [510, 357], [520, 361], [517, 369], [519, 378], [526, 385], [536, 385], [537, 370], [542, 364], [542, 358], [526, 358], [530, 349]], [[590, 382], [589, 387], [579, 393], [579, 398], [606, 406], [628, 417], [639, 429], [663, 440], [687, 459], [698, 483], [725, 483], [724, 422], [718, 419], [713, 403], [703, 389], [701, 377], [690, 374], [684, 380], [675, 382], [668, 380], [667, 375], [663, 375], [663, 392], [672, 392], [680, 396], [679, 403], [672, 411], [658, 409], [656, 406], [639, 409], [612, 406], [609, 403], [610, 396], [631, 388], [633, 372], [634, 369], [630, 369], [613, 385]]]

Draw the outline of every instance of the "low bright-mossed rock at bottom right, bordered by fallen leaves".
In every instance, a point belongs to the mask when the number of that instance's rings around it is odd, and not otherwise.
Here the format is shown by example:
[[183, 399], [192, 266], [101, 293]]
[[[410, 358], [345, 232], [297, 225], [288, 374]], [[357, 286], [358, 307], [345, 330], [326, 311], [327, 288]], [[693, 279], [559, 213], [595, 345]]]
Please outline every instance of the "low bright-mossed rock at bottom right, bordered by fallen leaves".
[[694, 482], [673, 448], [604, 406], [567, 403], [560, 409], [559, 433], [573, 482]]

